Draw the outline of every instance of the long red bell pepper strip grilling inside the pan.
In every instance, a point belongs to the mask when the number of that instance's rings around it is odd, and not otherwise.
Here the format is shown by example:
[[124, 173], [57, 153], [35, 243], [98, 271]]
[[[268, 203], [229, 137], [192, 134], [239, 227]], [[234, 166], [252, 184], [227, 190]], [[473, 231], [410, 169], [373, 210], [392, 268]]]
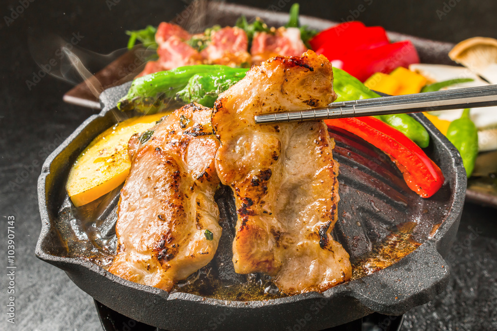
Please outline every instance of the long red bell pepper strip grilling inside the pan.
[[445, 178], [440, 168], [404, 133], [388, 124], [370, 116], [325, 123], [354, 133], [384, 151], [402, 172], [408, 187], [422, 198], [431, 197], [442, 187]]

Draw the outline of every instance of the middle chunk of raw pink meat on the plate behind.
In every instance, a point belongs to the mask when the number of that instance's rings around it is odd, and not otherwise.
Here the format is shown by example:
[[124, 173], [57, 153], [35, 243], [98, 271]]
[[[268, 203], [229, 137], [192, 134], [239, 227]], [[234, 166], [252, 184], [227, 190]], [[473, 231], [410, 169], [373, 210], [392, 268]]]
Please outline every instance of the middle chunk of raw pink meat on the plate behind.
[[201, 54], [208, 64], [240, 66], [251, 62], [247, 49], [247, 33], [227, 26], [211, 32], [209, 44]]

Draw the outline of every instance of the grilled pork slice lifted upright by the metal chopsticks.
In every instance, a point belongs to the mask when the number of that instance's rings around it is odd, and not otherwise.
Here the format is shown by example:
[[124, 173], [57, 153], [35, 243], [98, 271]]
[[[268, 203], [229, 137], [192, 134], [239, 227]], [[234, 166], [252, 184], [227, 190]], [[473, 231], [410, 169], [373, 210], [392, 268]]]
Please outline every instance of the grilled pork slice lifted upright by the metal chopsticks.
[[336, 95], [331, 64], [309, 51], [252, 66], [219, 96], [212, 124], [216, 170], [233, 189], [238, 273], [274, 276], [289, 294], [350, 279], [349, 256], [333, 240], [338, 202], [334, 141], [321, 122], [256, 125], [254, 115], [325, 107]]

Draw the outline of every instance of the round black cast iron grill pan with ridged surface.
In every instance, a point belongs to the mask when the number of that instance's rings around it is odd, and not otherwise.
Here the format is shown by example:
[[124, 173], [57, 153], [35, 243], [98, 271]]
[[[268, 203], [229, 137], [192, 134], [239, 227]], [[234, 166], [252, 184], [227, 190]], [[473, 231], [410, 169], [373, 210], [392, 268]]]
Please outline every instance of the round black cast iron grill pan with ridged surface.
[[[336, 141], [333, 155], [340, 163], [341, 200], [334, 236], [353, 261], [361, 261], [407, 225], [411, 229], [408, 242], [420, 246], [394, 265], [359, 277], [360, 270], [366, 274], [375, 267], [365, 268], [362, 264], [355, 268], [357, 279], [324, 293], [275, 299], [266, 296], [265, 300], [253, 301], [238, 301], [247, 300], [244, 297], [215, 299], [212, 291], [203, 295], [167, 293], [107, 272], [101, 265], [108, 261], [115, 245], [112, 224], [116, 199], [99, 199], [82, 212], [68, 202], [65, 184], [71, 165], [84, 147], [114, 123], [134, 115], [114, 107], [129, 85], [102, 93], [103, 110], [88, 118], [47, 158], [38, 182], [42, 230], [36, 255], [65, 270], [97, 301], [166, 330], [285, 330], [302, 319], [309, 320], [306, 328], [321, 330], [372, 312], [400, 315], [428, 302], [444, 289], [449, 273], [442, 256], [457, 232], [466, 175], [456, 149], [422, 115], [414, 117], [430, 133], [431, 143], [426, 152], [440, 165], [446, 178], [440, 191], [429, 199], [410, 191], [400, 172], [381, 151], [347, 132], [331, 132]], [[220, 190], [217, 202], [223, 236], [229, 242], [230, 224], [236, 219], [230, 190]], [[102, 204], [110, 207], [102, 209]], [[98, 209], [98, 215], [88, 217], [94, 211], [92, 208]], [[220, 261], [230, 261], [229, 245], [224, 246], [220, 245], [211, 269], [232, 283], [245, 281], [230, 273], [229, 264], [224, 264], [224, 269], [220, 267]]]

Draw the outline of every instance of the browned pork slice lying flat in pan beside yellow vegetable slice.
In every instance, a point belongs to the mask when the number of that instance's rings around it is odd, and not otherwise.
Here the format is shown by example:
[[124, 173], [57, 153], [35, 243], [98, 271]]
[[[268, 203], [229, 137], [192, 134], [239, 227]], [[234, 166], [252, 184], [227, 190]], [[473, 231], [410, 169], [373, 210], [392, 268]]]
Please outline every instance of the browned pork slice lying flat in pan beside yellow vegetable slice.
[[130, 140], [132, 164], [121, 191], [110, 272], [168, 291], [214, 257], [221, 226], [214, 202], [219, 141], [211, 115], [212, 109], [189, 104], [153, 134]]

